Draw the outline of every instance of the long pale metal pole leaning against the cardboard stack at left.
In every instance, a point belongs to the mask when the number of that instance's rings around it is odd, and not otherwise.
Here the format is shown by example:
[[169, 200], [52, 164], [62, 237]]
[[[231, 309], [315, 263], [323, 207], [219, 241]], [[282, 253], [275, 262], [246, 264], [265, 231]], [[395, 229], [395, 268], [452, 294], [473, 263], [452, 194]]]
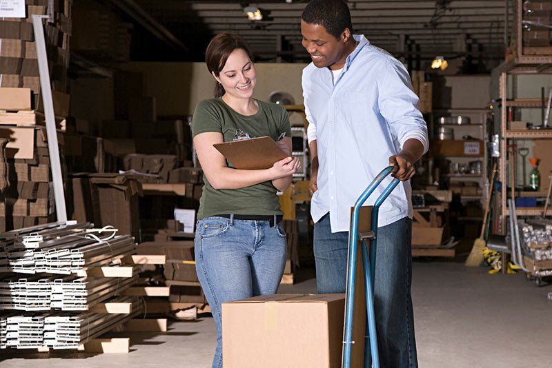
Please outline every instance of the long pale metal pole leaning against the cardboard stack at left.
[[48, 15], [33, 15], [32, 28], [34, 29], [34, 43], [37, 47], [40, 90], [42, 94], [42, 103], [44, 105], [44, 116], [46, 116], [46, 134], [48, 136], [48, 152], [50, 153], [52, 181], [54, 182], [57, 221], [66, 222], [67, 209], [65, 205], [65, 193], [63, 192], [63, 177], [61, 176], [61, 162], [59, 160], [54, 103], [52, 102], [52, 86], [50, 85], [48, 55], [46, 54], [46, 39], [44, 38], [42, 19], [48, 19]]

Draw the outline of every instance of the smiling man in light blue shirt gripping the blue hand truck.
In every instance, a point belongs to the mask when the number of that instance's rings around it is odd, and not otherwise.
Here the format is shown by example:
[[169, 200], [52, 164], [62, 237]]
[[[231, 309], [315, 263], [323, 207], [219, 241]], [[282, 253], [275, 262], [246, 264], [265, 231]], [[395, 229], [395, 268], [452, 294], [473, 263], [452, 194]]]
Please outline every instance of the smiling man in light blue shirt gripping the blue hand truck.
[[[303, 70], [311, 150], [311, 214], [320, 293], [343, 293], [351, 207], [387, 165], [402, 183], [380, 207], [375, 316], [382, 366], [417, 367], [411, 301], [411, 186], [428, 150], [426, 123], [404, 66], [351, 34], [342, 0], [311, 0], [301, 21], [312, 63]], [[386, 178], [371, 196], [372, 205]]]

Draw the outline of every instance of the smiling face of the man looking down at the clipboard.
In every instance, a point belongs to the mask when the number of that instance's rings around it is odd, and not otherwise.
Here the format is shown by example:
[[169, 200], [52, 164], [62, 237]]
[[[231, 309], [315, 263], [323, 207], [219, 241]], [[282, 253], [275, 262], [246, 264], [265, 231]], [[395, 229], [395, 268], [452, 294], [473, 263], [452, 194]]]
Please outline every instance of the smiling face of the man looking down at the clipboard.
[[342, 58], [344, 50], [343, 37], [335, 39], [319, 24], [301, 21], [303, 47], [311, 54], [311, 59], [317, 68], [330, 67]]

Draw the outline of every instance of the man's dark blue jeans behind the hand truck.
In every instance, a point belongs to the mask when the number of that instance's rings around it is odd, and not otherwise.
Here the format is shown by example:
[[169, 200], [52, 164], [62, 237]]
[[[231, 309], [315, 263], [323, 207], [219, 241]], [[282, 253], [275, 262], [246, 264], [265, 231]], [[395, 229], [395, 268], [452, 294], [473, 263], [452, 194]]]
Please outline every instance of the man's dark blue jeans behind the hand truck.
[[[377, 229], [374, 309], [382, 368], [417, 367], [411, 298], [412, 221], [405, 217]], [[319, 293], [344, 293], [348, 232], [331, 232], [330, 216], [314, 229]]]

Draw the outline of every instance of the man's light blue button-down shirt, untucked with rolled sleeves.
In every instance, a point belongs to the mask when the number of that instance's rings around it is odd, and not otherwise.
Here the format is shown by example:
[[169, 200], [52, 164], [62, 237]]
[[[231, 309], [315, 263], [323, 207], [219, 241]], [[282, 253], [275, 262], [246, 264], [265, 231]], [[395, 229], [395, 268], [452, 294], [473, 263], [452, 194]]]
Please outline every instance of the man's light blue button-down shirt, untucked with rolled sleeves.
[[[408, 139], [428, 150], [427, 125], [410, 76], [397, 59], [363, 35], [333, 81], [331, 70], [313, 63], [303, 70], [303, 96], [310, 139], [317, 141], [318, 190], [311, 201], [317, 222], [330, 212], [332, 232], [349, 229], [351, 207]], [[366, 205], [373, 205], [388, 176]], [[403, 182], [380, 207], [379, 226], [412, 217], [411, 185]]]

